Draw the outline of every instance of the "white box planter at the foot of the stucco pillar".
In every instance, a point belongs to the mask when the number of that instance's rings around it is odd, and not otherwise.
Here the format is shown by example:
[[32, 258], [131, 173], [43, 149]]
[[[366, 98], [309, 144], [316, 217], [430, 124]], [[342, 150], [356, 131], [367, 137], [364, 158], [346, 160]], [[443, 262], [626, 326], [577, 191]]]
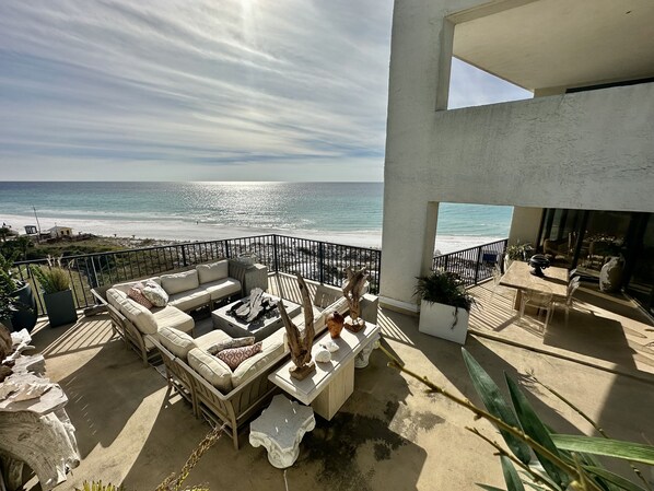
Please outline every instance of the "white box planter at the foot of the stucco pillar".
[[465, 344], [468, 334], [468, 317], [469, 314], [465, 308], [422, 301], [418, 330], [425, 335]]

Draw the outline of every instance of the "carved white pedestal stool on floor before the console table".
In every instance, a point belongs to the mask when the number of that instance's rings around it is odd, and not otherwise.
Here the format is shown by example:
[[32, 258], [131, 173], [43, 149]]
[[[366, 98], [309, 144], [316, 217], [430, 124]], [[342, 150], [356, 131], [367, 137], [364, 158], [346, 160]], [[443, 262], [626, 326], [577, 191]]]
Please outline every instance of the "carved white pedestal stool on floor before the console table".
[[252, 446], [264, 446], [268, 461], [278, 469], [291, 467], [300, 454], [304, 433], [316, 428], [314, 411], [278, 394], [268, 409], [249, 425]]

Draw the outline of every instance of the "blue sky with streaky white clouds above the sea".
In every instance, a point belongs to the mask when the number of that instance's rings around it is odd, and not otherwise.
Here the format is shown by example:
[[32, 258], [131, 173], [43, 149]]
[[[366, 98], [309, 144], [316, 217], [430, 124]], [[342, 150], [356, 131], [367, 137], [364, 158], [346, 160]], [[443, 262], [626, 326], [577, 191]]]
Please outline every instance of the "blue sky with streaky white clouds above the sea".
[[[0, 2], [0, 179], [383, 180], [392, 11]], [[453, 62], [451, 107], [527, 97]]]

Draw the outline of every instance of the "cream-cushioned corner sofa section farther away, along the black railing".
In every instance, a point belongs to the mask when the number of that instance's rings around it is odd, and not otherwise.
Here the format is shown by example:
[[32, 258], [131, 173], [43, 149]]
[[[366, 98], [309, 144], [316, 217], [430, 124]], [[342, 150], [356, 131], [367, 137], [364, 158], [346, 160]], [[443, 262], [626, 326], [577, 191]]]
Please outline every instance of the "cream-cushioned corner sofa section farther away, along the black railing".
[[[238, 277], [243, 278], [244, 272], [243, 265], [223, 259], [185, 271], [94, 289], [93, 293], [107, 306], [114, 330], [148, 365], [157, 352], [145, 335], [156, 337], [163, 327], [192, 334], [195, 323], [188, 312], [205, 305], [212, 307], [230, 296], [243, 296]], [[143, 281], [154, 281], [164, 289], [168, 294], [165, 307], [149, 309], [128, 296], [130, 288]]]

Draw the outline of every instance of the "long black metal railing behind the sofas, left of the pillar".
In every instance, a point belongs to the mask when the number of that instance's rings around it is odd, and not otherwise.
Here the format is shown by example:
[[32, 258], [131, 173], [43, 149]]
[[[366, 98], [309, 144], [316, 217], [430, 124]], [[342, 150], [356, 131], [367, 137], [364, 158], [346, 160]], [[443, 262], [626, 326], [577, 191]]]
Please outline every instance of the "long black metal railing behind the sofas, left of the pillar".
[[[277, 234], [68, 256], [62, 259], [62, 265], [70, 274], [75, 305], [83, 308], [95, 303], [91, 293], [93, 288], [245, 254], [254, 254], [271, 272], [300, 273], [305, 279], [336, 287], [340, 287], [346, 278], [346, 267], [365, 267], [370, 272], [371, 293], [379, 291], [379, 249]], [[15, 266], [20, 278], [34, 285], [30, 266], [46, 264], [45, 259], [39, 259], [19, 261]], [[42, 294], [38, 289], [34, 290], [38, 312], [43, 314]]]

